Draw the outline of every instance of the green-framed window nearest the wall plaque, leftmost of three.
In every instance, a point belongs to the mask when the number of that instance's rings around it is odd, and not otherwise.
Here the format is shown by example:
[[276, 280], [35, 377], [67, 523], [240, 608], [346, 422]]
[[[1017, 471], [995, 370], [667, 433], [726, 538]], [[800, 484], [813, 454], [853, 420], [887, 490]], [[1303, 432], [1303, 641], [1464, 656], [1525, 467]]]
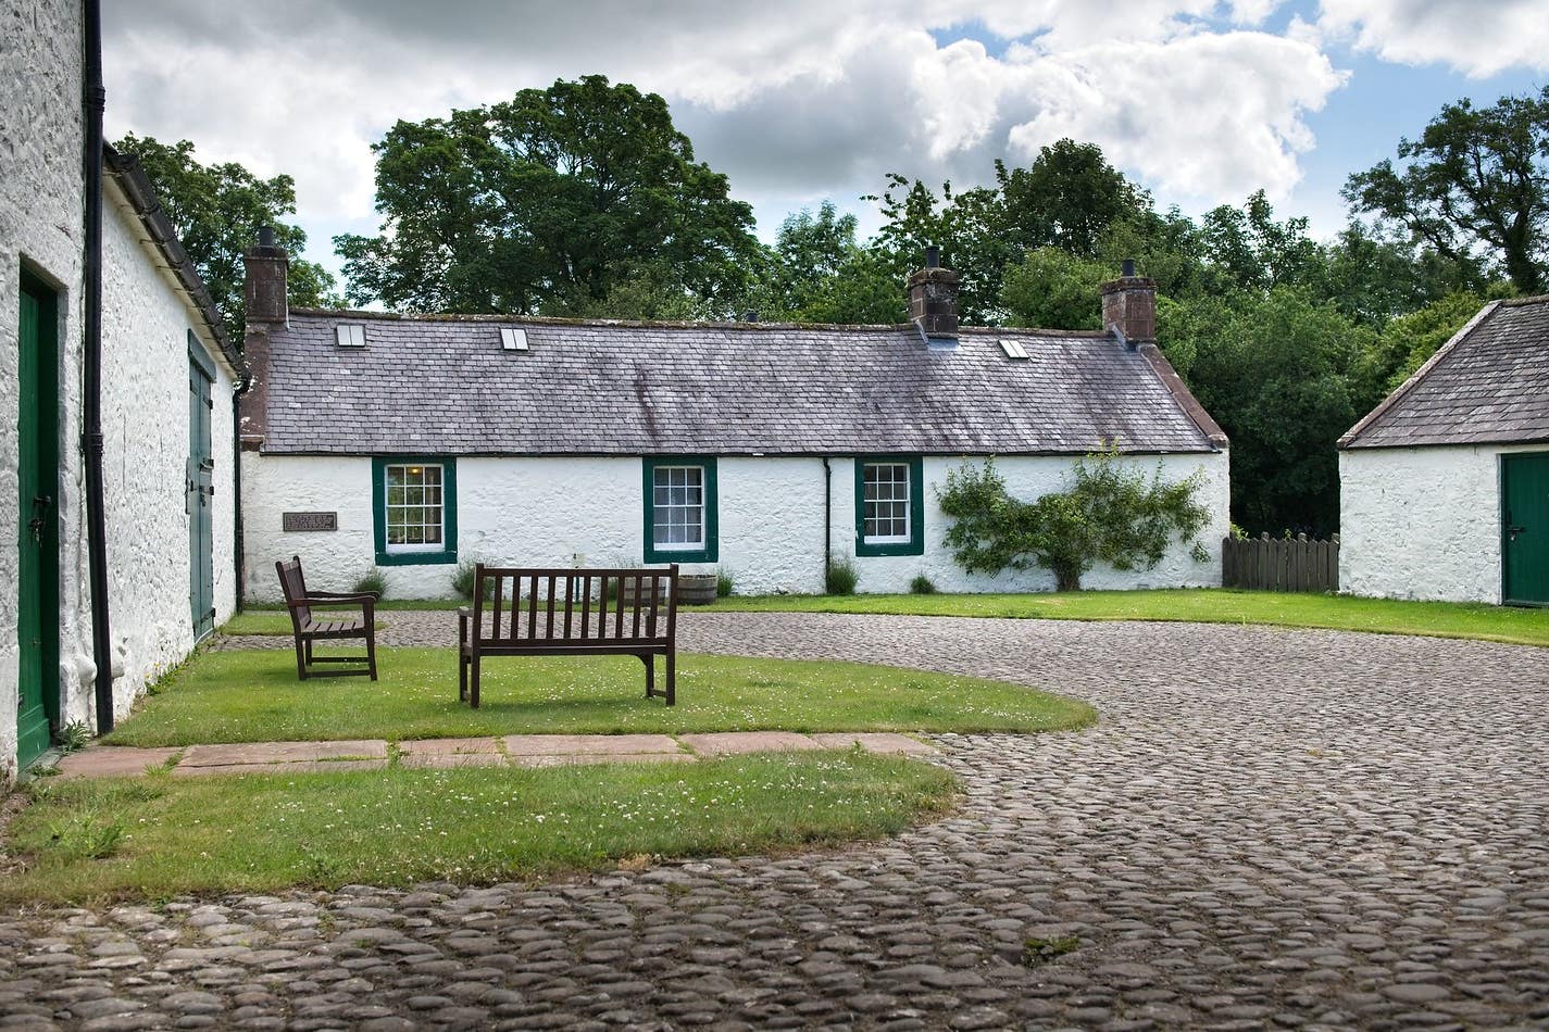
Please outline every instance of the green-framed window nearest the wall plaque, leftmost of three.
[[[437, 470], [434, 480], [431, 469]], [[390, 484], [389, 477], [401, 480]], [[443, 455], [373, 456], [372, 517], [378, 566], [455, 563], [457, 460]]]

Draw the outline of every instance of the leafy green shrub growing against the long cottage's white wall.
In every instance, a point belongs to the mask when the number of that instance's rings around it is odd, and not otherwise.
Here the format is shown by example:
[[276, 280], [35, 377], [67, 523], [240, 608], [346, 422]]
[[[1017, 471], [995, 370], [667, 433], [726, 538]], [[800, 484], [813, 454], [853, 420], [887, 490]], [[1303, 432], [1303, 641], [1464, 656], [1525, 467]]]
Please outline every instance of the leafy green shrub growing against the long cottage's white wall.
[[1205, 472], [1163, 481], [1120, 460], [1115, 449], [1075, 463], [1070, 490], [1021, 501], [1005, 492], [994, 460], [946, 473], [937, 489], [942, 512], [953, 518], [946, 546], [968, 572], [1052, 569], [1060, 591], [1078, 591], [1095, 562], [1114, 569], [1151, 569], [1177, 537], [1193, 542], [1193, 555], [1208, 554], [1197, 540], [1210, 512], [1196, 501]]

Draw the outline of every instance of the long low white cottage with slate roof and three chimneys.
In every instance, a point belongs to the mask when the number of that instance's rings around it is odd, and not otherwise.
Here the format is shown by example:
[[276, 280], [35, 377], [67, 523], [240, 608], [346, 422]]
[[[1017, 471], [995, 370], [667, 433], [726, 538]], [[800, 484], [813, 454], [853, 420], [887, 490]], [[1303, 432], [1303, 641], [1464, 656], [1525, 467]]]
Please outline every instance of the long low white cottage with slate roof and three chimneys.
[[[815, 326], [287, 311], [285, 254], [249, 255], [243, 399], [246, 583], [274, 563], [342, 589], [448, 596], [454, 563], [730, 571], [739, 593], [1046, 591], [1042, 569], [965, 574], [937, 487], [996, 456], [1008, 489], [1067, 486], [1114, 444], [1168, 478], [1204, 470], [1227, 534], [1227, 439], [1168, 367], [1156, 286], [1104, 286], [1109, 333], [959, 328], [957, 275], [911, 277], [911, 323]], [[1219, 585], [1176, 545], [1094, 588]]]

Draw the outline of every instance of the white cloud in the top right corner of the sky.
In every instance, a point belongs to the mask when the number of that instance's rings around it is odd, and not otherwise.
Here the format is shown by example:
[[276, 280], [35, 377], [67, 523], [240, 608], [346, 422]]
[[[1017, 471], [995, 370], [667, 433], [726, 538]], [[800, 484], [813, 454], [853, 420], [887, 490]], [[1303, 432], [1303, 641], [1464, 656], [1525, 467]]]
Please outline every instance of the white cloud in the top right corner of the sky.
[[1318, 28], [1383, 60], [1473, 77], [1549, 68], [1543, 0], [1323, 0]]

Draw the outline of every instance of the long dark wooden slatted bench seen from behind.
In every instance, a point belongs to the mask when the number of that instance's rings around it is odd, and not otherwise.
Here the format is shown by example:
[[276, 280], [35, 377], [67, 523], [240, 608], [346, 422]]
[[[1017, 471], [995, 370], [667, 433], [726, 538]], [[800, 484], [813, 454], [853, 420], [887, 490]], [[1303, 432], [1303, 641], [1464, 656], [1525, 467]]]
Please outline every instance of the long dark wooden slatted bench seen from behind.
[[[457, 698], [479, 709], [486, 656], [637, 656], [646, 698], [672, 706], [677, 681], [677, 565], [666, 569], [474, 568], [474, 605], [457, 613]], [[657, 692], [655, 658], [668, 687]]]

